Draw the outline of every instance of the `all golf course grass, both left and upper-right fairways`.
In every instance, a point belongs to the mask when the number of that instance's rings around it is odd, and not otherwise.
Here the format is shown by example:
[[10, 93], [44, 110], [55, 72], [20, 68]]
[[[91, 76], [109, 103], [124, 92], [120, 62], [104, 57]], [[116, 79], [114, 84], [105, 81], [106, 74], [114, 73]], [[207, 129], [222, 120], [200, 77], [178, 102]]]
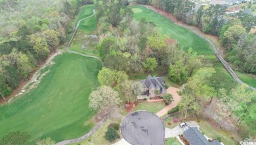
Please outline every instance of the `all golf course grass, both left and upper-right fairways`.
[[[163, 35], [176, 39], [184, 50], [191, 47], [198, 54], [215, 58], [209, 43], [191, 30], [146, 7], [130, 8], [136, 20], [146, 18], [148, 22], [154, 22]], [[93, 9], [94, 5], [81, 7], [74, 20], [74, 26], [82, 18], [93, 15]], [[82, 20], [70, 45], [70, 51], [98, 56], [98, 37], [95, 39], [95, 34], [96, 17]], [[82, 49], [81, 46], [85, 48]], [[31, 144], [47, 137], [60, 142], [83, 136], [95, 127], [93, 116], [96, 111], [89, 109], [89, 94], [99, 86], [97, 75], [102, 68], [101, 62], [95, 58], [68, 52], [62, 52], [52, 61], [51, 66], [41, 71], [46, 75], [39, 80], [35, 88], [0, 106], [0, 137], [12, 131], [27, 131], [31, 136]], [[231, 78], [221, 62], [214, 65], [217, 71]], [[255, 77], [236, 73], [242, 81], [256, 87]], [[159, 105], [159, 108], [163, 107], [163, 104]]]

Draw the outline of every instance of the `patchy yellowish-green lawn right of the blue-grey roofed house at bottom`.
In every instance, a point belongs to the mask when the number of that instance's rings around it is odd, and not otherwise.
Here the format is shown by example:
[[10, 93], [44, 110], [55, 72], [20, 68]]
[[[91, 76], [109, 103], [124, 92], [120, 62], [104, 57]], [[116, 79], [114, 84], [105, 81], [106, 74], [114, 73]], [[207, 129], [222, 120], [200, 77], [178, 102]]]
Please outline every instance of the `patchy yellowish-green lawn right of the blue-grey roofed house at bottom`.
[[[228, 135], [228, 133], [226, 133], [225, 131], [216, 131], [206, 121], [200, 121], [198, 122], [198, 124], [200, 125], [200, 131], [203, 131], [205, 135], [208, 136], [209, 138], [216, 139], [218, 136], [220, 136], [223, 144], [225, 145], [238, 144], [237, 142], [234, 141], [234, 139], [231, 138], [230, 135]], [[239, 138], [238, 136], [233, 136], [233, 137], [236, 138], [236, 140], [239, 140], [239, 141], [242, 140], [242, 138]]]

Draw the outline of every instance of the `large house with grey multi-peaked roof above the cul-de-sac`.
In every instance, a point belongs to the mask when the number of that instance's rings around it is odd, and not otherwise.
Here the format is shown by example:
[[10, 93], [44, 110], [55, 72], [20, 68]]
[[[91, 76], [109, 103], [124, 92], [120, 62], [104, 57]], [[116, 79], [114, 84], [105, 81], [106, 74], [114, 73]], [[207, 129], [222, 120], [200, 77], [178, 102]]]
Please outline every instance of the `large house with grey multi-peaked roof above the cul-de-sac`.
[[159, 96], [166, 93], [165, 82], [162, 77], [152, 77], [151, 75], [148, 75], [148, 77], [141, 80], [140, 83], [142, 83], [144, 87], [144, 92], [142, 95], [137, 96], [138, 99], [155, 97], [157, 96], [155, 93], [156, 90], [160, 91], [160, 94], [158, 94]]

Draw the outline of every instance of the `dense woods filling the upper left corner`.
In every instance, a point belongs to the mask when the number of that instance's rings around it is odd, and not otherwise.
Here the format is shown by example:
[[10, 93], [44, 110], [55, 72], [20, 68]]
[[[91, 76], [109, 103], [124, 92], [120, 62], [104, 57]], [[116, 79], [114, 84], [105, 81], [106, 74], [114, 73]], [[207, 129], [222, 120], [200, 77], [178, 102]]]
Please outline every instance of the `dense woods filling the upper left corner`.
[[0, 2], [0, 93], [18, 87], [50, 52], [66, 42], [79, 7], [91, 0]]

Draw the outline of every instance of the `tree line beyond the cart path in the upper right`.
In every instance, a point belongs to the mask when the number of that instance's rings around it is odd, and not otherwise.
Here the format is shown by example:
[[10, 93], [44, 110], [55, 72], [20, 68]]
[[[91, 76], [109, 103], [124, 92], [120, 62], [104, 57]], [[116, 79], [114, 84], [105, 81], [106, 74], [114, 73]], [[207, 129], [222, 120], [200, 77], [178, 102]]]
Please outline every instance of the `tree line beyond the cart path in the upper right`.
[[225, 14], [227, 7], [223, 5], [202, 5], [195, 10], [195, 3], [189, 0], [137, 0], [137, 3], [153, 5], [173, 14], [177, 20], [200, 28], [204, 33], [220, 36], [226, 60], [242, 72], [255, 74], [255, 34], [249, 31], [256, 24], [256, 16], [244, 12], [228, 15]]

